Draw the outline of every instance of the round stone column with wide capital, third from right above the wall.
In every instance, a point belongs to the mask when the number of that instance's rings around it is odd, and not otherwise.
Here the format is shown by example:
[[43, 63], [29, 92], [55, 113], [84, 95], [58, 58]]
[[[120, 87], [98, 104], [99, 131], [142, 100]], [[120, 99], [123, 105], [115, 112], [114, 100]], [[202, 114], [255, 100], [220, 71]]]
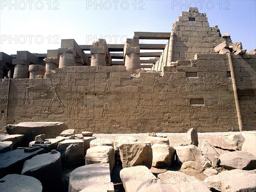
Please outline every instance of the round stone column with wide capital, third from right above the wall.
[[59, 68], [75, 66], [74, 55], [76, 55], [76, 52], [73, 48], [60, 48], [58, 49], [58, 54], [60, 55]]

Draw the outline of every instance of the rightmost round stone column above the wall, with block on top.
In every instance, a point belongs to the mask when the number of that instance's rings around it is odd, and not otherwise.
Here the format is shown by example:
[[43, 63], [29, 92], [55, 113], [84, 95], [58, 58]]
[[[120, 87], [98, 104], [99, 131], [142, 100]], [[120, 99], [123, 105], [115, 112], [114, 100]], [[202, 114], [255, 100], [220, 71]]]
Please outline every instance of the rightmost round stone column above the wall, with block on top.
[[124, 47], [124, 63], [126, 70], [140, 69], [139, 37], [127, 39]]

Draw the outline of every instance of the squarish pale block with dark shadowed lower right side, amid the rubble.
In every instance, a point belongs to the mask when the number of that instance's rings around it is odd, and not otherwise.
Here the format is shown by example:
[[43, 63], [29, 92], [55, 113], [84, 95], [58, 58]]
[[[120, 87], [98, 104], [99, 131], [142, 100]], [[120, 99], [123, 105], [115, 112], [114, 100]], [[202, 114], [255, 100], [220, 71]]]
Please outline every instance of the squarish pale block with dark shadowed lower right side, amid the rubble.
[[174, 162], [175, 149], [166, 144], [154, 144], [151, 146], [154, 167], [168, 167]]

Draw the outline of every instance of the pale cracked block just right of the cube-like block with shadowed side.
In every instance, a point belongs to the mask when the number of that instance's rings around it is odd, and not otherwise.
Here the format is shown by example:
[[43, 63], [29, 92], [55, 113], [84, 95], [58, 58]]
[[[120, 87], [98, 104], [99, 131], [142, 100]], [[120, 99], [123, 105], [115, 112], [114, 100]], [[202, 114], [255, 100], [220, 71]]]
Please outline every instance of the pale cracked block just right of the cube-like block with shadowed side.
[[177, 146], [175, 149], [177, 161], [180, 163], [184, 163], [186, 161], [195, 161], [202, 165], [205, 161], [201, 154], [200, 148], [195, 145]]

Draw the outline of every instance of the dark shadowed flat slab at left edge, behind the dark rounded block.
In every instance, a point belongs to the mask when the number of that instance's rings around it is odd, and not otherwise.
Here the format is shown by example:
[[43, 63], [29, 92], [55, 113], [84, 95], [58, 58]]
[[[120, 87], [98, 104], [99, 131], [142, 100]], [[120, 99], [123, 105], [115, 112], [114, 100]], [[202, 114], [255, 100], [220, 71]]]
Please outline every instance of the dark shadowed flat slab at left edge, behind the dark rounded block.
[[25, 153], [24, 150], [7, 151], [0, 155], [0, 178], [5, 175], [17, 173], [20, 174], [23, 163], [35, 155], [45, 153], [44, 149]]

